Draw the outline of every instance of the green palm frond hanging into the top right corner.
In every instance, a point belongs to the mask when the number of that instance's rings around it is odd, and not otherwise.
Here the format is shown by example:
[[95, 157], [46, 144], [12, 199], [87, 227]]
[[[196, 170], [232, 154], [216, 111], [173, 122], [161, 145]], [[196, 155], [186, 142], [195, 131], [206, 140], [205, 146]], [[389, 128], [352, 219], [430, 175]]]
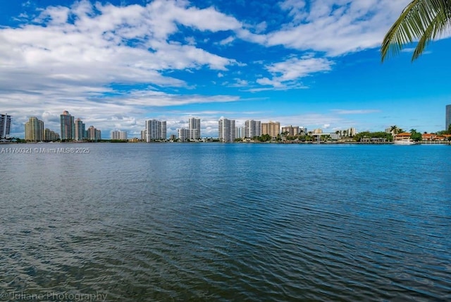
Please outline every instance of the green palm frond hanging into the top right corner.
[[398, 54], [404, 44], [418, 40], [412, 61], [431, 40], [443, 35], [451, 25], [451, 0], [413, 0], [393, 23], [381, 45], [381, 59]]

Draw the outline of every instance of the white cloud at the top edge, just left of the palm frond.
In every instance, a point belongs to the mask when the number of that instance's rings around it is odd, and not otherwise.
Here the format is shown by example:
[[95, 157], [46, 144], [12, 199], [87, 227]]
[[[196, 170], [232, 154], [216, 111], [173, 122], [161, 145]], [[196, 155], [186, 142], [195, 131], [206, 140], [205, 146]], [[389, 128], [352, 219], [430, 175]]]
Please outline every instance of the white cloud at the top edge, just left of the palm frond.
[[280, 7], [290, 24], [268, 33], [264, 44], [338, 56], [380, 46], [385, 32], [409, 0], [287, 0]]

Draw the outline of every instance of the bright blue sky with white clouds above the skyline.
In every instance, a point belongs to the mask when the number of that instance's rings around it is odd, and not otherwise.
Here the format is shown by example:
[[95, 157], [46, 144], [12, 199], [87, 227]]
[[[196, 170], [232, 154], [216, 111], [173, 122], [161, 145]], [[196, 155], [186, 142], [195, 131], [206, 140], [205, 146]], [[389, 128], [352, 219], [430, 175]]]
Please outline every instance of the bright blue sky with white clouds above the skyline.
[[410, 0], [0, 0], [0, 112], [11, 136], [30, 116], [140, 137], [201, 119], [279, 121], [324, 132], [445, 128], [451, 40], [413, 63], [381, 63], [385, 32]]

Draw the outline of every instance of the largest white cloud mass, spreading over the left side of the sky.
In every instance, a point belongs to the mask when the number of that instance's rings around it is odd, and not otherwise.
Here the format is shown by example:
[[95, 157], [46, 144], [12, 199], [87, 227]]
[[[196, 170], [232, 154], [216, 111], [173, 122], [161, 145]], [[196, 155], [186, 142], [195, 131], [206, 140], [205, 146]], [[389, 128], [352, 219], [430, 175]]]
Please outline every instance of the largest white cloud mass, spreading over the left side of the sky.
[[[20, 123], [29, 116], [42, 116], [58, 131], [63, 110], [85, 116], [99, 128], [131, 127], [146, 107], [239, 99], [149, 90], [123, 95], [113, 88], [188, 87], [168, 72], [226, 71], [239, 64], [196, 47], [189, 37], [185, 44], [171, 40], [178, 25], [210, 32], [241, 27], [214, 8], [199, 9], [186, 1], [118, 7], [82, 0], [39, 10], [31, 24], [0, 28], [0, 104], [15, 116], [16, 128], [23, 128]], [[118, 124], [109, 117], [118, 112], [129, 122]]]

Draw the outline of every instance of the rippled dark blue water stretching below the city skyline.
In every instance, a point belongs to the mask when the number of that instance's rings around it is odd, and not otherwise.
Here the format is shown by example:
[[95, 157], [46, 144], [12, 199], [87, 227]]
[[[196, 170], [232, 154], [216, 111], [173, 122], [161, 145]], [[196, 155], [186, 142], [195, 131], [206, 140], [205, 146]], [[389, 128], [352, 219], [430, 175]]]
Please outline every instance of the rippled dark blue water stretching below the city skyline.
[[82, 147], [0, 154], [0, 301], [451, 300], [450, 146]]

